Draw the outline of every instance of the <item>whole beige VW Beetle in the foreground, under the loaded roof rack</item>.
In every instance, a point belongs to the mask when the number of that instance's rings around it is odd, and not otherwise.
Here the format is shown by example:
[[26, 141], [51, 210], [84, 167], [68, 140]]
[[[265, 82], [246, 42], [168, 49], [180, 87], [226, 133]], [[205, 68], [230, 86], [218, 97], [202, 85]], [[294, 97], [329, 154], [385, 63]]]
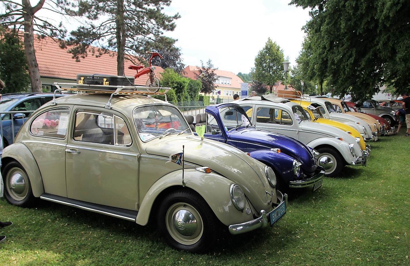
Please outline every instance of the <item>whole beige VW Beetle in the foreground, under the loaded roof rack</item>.
[[219, 224], [239, 234], [286, 212], [270, 167], [194, 136], [181, 112], [141, 95], [87, 93], [40, 107], [4, 149], [7, 201], [36, 198], [146, 225], [169, 245], [204, 252]]

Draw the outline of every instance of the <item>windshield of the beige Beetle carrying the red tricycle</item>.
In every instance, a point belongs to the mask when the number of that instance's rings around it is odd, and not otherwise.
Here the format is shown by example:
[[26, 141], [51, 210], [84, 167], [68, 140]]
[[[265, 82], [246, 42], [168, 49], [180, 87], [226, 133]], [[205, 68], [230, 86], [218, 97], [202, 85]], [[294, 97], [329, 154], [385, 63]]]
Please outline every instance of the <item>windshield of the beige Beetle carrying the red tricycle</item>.
[[192, 133], [180, 110], [173, 106], [150, 105], [135, 108], [132, 118], [138, 135], [144, 142], [171, 133]]

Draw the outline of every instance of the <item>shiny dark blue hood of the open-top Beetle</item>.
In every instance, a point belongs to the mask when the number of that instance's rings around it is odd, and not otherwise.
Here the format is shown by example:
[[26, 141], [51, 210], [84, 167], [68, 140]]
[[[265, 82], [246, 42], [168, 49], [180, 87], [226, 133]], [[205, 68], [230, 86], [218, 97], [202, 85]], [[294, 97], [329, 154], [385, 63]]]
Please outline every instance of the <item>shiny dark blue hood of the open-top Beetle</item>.
[[236, 141], [257, 143], [269, 147], [270, 149], [280, 149], [281, 152], [297, 159], [303, 163], [304, 169], [316, 169], [316, 161], [310, 148], [302, 142], [270, 131], [255, 128], [242, 128], [237, 131], [228, 132], [228, 138]]

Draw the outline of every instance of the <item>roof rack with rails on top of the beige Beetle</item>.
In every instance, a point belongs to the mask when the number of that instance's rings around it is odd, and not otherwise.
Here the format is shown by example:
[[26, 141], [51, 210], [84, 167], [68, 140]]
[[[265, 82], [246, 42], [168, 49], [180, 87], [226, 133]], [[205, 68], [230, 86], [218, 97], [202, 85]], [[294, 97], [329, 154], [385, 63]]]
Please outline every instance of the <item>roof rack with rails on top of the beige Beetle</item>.
[[[62, 92], [63, 90], [71, 90], [77, 92], [96, 92], [96, 93], [110, 93], [111, 96], [105, 108], [111, 109], [111, 100], [114, 95], [125, 94], [125, 95], [145, 95], [151, 97], [151, 95], [164, 95], [165, 101], [166, 92], [171, 88], [166, 87], [145, 87], [145, 86], [112, 86], [112, 85], [88, 85], [88, 84], [77, 84], [77, 83], [64, 83], [64, 82], [54, 82], [54, 85], [57, 87], [57, 90], [54, 91], [54, 97], [51, 105], [55, 105], [55, 92]], [[62, 85], [71, 86], [71, 88], [62, 88]], [[73, 88], [75, 86], [75, 88]], [[77, 88], [81, 86], [81, 88]], [[157, 92], [148, 92], [147, 88], [158, 89]], [[114, 91], [115, 90], [115, 91]], [[144, 91], [145, 90], [145, 91]], [[161, 90], [161, 91], [159, 91]]]

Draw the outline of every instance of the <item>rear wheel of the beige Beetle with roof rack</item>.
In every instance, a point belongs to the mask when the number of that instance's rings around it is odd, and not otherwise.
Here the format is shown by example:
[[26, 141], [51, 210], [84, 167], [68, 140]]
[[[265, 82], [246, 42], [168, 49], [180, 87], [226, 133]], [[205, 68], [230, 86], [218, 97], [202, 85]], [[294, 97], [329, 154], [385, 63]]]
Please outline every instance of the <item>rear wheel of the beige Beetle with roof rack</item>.
[[2, 171], [4, 181], [4, 195], [11, 204], [29, 207], [33, 205], [35, 197], [30, 179], [19, 162], [9, 162]]

